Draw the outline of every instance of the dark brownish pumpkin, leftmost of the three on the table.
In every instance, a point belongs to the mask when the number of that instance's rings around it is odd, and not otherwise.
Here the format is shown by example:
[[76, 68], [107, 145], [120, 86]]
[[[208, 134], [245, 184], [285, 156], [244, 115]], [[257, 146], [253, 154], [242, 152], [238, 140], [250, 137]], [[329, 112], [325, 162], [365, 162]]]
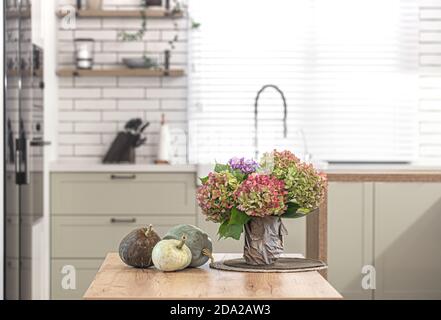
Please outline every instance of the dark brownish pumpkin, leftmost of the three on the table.
[[148, 268], [153, 265], [152, 251], [161, 238], [150, 225], [148, 228], [130, 232], [119, 245], [121, 260], [135, 268]]

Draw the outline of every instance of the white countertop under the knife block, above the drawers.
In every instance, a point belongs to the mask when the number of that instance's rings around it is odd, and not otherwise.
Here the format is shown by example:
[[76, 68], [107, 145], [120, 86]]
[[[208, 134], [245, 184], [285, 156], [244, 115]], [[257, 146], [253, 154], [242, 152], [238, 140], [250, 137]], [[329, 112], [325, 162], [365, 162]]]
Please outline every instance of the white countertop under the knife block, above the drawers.
[[102, 164], [83, 162], [53, 162], [51, 172], [196, 172], [197, 166], [191, 164]]

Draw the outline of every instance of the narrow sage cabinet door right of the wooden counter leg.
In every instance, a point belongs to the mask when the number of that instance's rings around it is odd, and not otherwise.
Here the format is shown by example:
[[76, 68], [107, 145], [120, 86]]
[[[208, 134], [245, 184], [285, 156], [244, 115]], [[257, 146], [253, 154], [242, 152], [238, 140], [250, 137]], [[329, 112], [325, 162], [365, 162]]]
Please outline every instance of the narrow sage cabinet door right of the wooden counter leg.
[[328, 191], [328, 281], [346, 299], [372, 299], [362, 288], [373, 263], [373, 183], [331, 182]]

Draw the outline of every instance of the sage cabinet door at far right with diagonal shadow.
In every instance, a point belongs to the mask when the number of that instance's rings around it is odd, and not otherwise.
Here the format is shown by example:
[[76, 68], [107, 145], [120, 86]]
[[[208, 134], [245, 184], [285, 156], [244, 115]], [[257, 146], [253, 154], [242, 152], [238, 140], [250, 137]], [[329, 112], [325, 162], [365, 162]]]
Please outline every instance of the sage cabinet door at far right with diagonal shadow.
[[376, 299], [441, 299], [441, 184], [375, 184]]

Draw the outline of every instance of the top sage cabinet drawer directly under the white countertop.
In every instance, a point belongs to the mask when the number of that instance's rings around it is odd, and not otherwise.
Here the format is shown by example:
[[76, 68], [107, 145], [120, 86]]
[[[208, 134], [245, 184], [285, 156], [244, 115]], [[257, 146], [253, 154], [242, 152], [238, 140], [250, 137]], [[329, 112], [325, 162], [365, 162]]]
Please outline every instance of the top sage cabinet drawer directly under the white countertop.
[[194, 214], [189, 173], [53, 173], [54, 215]]

